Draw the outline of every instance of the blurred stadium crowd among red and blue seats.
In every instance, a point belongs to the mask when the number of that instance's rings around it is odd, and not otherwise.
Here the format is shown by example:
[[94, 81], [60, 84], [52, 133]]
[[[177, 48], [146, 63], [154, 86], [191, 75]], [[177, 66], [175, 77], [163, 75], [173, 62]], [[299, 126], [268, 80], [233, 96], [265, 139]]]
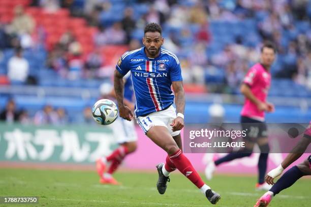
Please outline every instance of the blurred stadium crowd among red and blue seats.
[[311, 97], [310, 20], [307, 0], [1, 0], [0, 84], [98, 89], [157, 22], [186, 91], [238, 94], [271, 40], [270, 95]]

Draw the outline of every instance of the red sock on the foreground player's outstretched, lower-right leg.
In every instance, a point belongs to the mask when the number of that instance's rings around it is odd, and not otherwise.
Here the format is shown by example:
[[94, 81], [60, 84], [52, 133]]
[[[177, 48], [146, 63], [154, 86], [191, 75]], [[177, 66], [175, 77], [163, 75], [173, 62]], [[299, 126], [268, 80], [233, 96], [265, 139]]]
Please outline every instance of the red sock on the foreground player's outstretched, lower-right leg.
[[170, 158], [177, 169], [187, 177], [193, 184], [195, 184], [198, 188], [201, 188], [204, 185], [201, 177], [198, 172], [192, 166], [191, 162], [188, 158], [186, 158], [181, 150], [177, 150], [174, 154], [170, 155]]

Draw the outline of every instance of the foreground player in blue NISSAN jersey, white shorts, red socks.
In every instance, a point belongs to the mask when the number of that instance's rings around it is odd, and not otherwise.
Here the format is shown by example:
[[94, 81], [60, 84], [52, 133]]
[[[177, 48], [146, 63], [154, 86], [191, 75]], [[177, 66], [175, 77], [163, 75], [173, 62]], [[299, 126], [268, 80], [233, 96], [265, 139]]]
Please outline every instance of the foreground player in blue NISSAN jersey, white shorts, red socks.
[[[146, 25], [142, 42], [144, 47], [123, 54], [116, 65], [114, 89], [119, 115], [129, 121], [133, 119], [131, 110], [123, 101], [122, 78], [131, 71], [137, 123], [149, 139], [168, 154], [166, 163], [157, 165], [159, 193], [165, 193], [170, 172], [177, 168], [212, 204], [215, 204], [220, 195], [204, 184], [181, 150], [180, 130], [184, 125], [185, 101], [179, 60], [175, 54], [161, 48], [164, 38], [159, 24]], [[174, 102], [176, 109], [173, 107]]]

